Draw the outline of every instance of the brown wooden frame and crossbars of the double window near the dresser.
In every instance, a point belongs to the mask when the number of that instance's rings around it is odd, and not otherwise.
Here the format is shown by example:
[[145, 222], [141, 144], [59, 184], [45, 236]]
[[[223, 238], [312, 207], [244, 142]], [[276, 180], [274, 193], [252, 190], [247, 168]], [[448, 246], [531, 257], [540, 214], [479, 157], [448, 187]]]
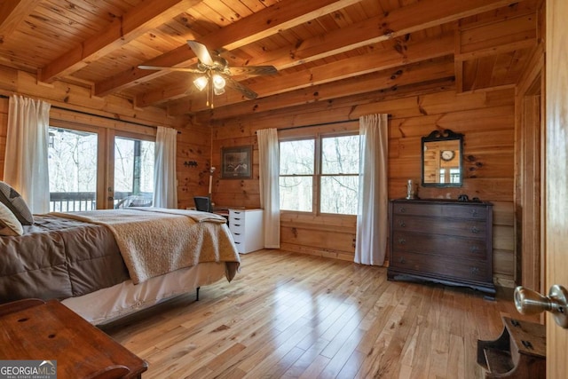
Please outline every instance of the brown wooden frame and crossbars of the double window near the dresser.
[[[290, 136], [290, 137], [280, 137], [279, 138], [279, 147], [280, 143], [282, 142], [292, 142], [292, 141], [301, 141], [301, 140], [313, 140], [314, 141], [314, 168], [313, 174], [302, 174], [302, 175], [280, 175], [281, 177], [312, 177], [312, 211], [306, 210], [289, 210], [289, 209], [280, 209], [281, 213], [290, 213], [290, 214], [302, 214], [302, 215], [312, 215], [312, 216], [326, 216], [326, 217], [353, 217], [355, 215], [348, 214], [348, 213], [325, 213], [321, 211], [321, 178], [323, 177], [353, 177], [357, 176], [359, 178], [360, 172], [357, 174], [323, 174], [322, 173], [322, 146], [323, 146], [323, 139], [324, 138], [335, 138], [335, 137], [348, 137], [348, 136], [359, 136], [359, 130], [342, 130], [342, 131], [329, 131], [329, 132], [322, 132], [316, 131], [309, 134], [303, 134], [301, 136]], [[279, 148], [280, 151], [280, 148]], [[279, 179], [280, 180], [280, 179]]]

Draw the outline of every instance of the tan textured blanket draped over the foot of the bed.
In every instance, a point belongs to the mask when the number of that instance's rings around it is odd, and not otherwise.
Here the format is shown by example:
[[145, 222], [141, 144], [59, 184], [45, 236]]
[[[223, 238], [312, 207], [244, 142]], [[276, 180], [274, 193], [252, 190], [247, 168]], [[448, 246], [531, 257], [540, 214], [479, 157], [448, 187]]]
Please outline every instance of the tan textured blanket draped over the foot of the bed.
[[[200, 262], [240, 262], [225, 218], [214, 214], [140, 208], [51, 215], [106, 225], [134, 284]], [[233, 279], [229, 272], [227, 279]]]

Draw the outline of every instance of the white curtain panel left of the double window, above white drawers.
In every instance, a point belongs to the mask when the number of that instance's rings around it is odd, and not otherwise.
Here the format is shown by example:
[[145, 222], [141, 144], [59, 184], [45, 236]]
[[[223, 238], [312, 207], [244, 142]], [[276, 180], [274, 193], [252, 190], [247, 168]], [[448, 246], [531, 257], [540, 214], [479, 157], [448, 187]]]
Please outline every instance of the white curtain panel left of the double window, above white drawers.
[[276, 129], [257, 130], [260, 206], [264, 209], [264, 248], [280, 248], [280, 153]]

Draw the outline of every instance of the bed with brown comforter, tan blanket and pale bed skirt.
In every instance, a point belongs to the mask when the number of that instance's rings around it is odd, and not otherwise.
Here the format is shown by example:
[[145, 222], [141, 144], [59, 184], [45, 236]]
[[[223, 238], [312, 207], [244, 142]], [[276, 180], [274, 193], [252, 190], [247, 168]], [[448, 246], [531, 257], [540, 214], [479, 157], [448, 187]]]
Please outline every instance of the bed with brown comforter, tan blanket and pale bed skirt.
[[0, 237], [0, 304], [56, 298], [99, 325], [221, 280], [240, 258], [224, 217], [129, 208], [34, 215]]

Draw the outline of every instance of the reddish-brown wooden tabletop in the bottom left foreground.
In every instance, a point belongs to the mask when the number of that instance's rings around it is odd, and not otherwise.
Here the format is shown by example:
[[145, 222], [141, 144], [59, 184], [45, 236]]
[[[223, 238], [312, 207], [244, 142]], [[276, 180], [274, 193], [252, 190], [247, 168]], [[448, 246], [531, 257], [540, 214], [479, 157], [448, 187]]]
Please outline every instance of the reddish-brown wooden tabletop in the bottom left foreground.
[[0, 359], [57, 360], [58, 379], [141, 378], [147, 369], [121, 344], [57, 300], [0, 305]]

